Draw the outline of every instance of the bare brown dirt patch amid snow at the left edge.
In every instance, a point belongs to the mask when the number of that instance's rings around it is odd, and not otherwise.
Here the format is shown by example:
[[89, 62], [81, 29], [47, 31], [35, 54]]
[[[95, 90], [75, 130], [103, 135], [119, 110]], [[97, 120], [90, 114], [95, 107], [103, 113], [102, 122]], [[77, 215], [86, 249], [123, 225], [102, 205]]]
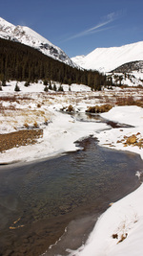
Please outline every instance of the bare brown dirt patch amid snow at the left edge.
[[34, 144], [43, 137], [43, 129], [23, 129], [6, 134], [0, 134], [0, 151]]

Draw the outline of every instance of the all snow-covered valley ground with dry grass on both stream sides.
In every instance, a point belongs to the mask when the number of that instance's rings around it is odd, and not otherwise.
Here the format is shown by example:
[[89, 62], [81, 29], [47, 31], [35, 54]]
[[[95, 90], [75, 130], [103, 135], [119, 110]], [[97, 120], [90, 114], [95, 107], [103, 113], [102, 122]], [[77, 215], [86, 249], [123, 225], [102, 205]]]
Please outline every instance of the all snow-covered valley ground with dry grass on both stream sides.
[[[20, 92], [14, 92], [15, 81], [0, 91], [0, 133], [7, 133], [26, 124], [31, 128], [36, 121], [43, 128], [43, 138], [34, 145], [22, 146], [1, 152], [0, 163], [13, 161], [31, 161], [51, 157], [66, 151], [76, 151], [74, 143], [89, 135], [97, 137], [102, 147], [115, 150], [133, 151], [143, 159], [143, 149], [127, 146], [123, 143], [125, 136], [133, 134], [143, 138], [143, 108], [135, 105], [116, 106], [117, 97], [142, 98], [143, 91], [136, 88], [104, 89], [92, 92], [87, 86], [72, 84], [63, 85], [64, 93], [48, 93], [43, 91], [44, 85], [39, 83], [25, 87], [18, 85]], [[58, 86], [58, 84], [57, 84]], [[42, 91], [42, 92], [41, 92]], [[5, 98], [5, 99], [4, 99]], [[7, 98], [7, 100], [6, 100]], [[111, 128], [106, 123], [79, 122], [74, 116], [63, 114], [59, 110], [72, 105], [74, 111], [85, 112], [88, 106], [112, 103], [112, 109], [101, 114], [105, 119], [127, 124], [130, 128]], [[30, 155], [31, 151], [31, 155]], [[140, 174], [137, 173], [138, 177]], [[112, 206], [96, 222], [85, 245], [76, 251], [69, 251], [71, 256], [140, 256], [143, 255], [143, 185], [136, 191], [112, 203]], [[75, 231], [76, 232], [76, 231]]]

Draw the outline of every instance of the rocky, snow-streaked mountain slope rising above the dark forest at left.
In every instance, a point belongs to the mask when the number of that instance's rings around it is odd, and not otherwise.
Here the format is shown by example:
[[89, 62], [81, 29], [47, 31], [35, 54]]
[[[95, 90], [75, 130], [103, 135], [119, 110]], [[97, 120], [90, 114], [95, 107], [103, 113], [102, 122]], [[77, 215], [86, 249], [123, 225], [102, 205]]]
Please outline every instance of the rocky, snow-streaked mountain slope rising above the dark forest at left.
[[71, 58], [69, 58], [64, 53], [64, 51], [62, 51], [59, 47], [53, 45], [48, 39], [44, 38], [42, 35], [37, 34], [33, 30], [25, 26], [14, 26], [1, 17], [0, 37], [29, 45], [32, 48], [35, 48], [38, 51], [42, 52], [44, 55], [65, 62], [72, 67], [77, 67], [77, 65], [72, 62]]

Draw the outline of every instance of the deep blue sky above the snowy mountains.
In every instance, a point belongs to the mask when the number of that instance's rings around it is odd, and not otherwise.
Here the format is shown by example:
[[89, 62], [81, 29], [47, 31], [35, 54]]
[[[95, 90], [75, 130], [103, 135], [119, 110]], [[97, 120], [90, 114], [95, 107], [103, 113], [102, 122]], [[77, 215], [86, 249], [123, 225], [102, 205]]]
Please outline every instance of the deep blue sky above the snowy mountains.
[[71, 58], [143, 40], [142, 0], [1, 0], [0, 16], [31, 27]]

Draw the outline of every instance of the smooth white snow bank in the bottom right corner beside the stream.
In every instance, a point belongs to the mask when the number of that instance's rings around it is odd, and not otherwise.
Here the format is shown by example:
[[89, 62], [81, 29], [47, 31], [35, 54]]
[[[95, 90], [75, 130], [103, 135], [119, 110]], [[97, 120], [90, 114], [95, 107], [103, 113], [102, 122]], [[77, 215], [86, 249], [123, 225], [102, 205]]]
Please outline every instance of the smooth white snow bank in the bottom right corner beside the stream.
[[[126, 198], [112, 204], [97, 221], [83, 250], [80, 248], [71, 255], [143, 255], [142, 197], [143, 185]], [[122, 241], [124, 238], [125, 240]]]

